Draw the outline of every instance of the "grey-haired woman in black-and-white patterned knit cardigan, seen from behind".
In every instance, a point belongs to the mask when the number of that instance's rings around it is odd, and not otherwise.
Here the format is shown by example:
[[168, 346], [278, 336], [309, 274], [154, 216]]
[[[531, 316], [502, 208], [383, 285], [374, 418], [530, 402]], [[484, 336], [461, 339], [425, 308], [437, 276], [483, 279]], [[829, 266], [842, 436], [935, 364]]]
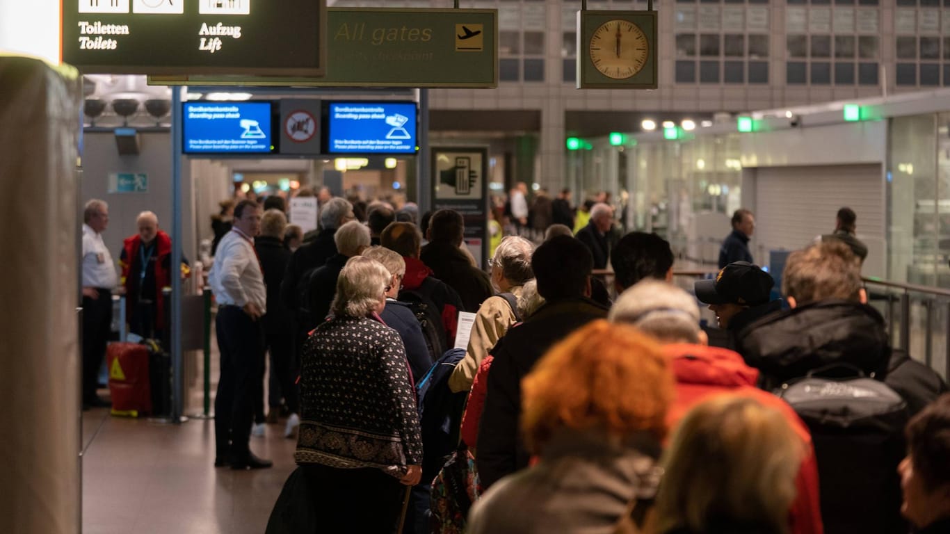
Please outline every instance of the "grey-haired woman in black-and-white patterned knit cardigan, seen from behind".
[[336, 280], [333, 317], [301, 354], [295, 459], [313, 482], [315, 514], [327, 532], [392, 530], [404, 488], [422, 475], [406, 353], [378, 315], [391, 279], [378, 261], [350, 258]]

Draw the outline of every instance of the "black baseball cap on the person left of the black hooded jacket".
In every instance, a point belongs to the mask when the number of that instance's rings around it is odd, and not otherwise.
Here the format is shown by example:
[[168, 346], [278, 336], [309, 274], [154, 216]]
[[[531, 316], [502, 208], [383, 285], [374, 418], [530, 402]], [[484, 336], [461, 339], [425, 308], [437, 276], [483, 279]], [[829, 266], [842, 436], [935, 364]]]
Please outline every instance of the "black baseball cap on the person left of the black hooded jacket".
[[735, 261], [719, 270], [715, 279], [699, 280], [693, 289], [706, 304], [758, 306], [769, 302], [775, 280], [758, 265]]

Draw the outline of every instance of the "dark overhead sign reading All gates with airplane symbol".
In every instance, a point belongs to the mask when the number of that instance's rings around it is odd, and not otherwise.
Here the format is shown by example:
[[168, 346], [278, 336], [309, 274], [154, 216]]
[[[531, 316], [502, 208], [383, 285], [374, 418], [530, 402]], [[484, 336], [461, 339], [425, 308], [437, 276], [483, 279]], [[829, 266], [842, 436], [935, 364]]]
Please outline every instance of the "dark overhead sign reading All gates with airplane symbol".
[[327, 10], [327, 70], [323, 78], [189, 74], [153, 76], [149, 83], [166, 86], [496, 87], [497, 28], [498, 10], [330, 8]]

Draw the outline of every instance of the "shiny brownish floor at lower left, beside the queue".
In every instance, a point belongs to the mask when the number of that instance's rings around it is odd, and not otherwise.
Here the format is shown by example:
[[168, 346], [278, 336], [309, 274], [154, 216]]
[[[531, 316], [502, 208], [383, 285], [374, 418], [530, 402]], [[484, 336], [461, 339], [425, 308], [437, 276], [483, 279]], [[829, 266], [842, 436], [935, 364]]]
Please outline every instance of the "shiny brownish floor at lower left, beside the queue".
[[[193, 390], [189, 398], [200, 395]], [[201, 406], [190, 404], [186, 413]], [[283, 423], [251, 438], [251, 449], [274, 460], [273, 468], [232, 471], [213, 467], [212, 420], [171, 425], [85, 411], [84, 534], [261, 534], [295, 468], [295, 440], [283, 437]]]

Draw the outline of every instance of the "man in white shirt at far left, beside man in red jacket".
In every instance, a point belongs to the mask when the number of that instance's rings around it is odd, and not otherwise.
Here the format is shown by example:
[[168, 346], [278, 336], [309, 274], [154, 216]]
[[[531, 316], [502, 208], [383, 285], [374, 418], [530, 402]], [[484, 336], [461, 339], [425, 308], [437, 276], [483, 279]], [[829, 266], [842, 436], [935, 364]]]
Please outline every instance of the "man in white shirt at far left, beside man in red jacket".
[[119, 280], [102, 236], [109, 223], [108, 204], [98, 199], [86, 202], [83, 222], [83, 409], [87, 410], [109, 406], [96, 389], [112, 330], [112, 289]]

